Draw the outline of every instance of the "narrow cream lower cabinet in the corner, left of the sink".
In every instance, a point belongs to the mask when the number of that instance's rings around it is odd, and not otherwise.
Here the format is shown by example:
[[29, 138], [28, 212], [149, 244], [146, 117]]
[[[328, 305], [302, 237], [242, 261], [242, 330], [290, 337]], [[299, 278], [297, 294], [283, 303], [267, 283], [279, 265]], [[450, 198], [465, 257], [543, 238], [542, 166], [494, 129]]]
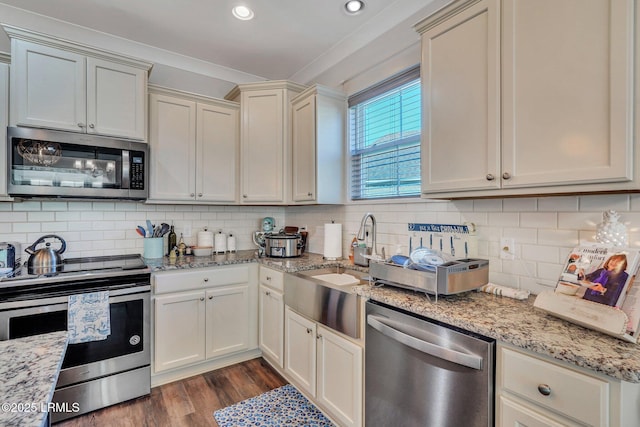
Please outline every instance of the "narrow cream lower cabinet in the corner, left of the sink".
[[284, 368], [283, 273], [260, 266], [258, 343], [262, 355]]

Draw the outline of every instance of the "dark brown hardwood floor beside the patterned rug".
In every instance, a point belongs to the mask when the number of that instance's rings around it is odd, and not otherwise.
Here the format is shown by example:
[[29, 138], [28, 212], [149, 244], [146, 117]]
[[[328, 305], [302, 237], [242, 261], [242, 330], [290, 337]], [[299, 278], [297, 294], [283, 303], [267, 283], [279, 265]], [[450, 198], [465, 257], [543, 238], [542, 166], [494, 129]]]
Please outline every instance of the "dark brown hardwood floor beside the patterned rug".
[[287, 384], [262, 358], [151, 389], [151, 395], [55, 424], [55, 427], [217, 426], [213, 412]]

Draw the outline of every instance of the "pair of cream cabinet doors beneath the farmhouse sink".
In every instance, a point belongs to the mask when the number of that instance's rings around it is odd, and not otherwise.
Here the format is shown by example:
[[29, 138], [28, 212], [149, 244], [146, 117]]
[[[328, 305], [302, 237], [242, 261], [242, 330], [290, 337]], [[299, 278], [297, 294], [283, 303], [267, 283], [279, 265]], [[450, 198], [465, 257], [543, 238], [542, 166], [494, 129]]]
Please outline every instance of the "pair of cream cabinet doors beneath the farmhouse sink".
[[289, 307], [284, 372], [339, 425], [362, 425], [362, 347]]

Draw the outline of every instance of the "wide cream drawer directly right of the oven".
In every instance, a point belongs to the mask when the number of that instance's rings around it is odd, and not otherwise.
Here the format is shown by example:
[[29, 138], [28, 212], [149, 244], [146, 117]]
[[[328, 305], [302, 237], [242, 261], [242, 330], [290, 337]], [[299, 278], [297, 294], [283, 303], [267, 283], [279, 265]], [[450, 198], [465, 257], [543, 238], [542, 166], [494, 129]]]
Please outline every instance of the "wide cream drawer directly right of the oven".
[[153, 283], [155, 294], [249, 283], [249, 267], [213, 267], [154, 273]]

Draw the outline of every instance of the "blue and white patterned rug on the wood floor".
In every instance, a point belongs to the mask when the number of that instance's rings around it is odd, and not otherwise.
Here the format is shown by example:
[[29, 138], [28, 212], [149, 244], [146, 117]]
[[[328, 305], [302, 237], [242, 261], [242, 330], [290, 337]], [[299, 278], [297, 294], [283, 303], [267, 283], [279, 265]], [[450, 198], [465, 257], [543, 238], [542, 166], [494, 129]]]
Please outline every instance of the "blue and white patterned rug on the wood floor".
[[220, 427], [334, 427], [294, 386], [287, 384], [213, 413]]

